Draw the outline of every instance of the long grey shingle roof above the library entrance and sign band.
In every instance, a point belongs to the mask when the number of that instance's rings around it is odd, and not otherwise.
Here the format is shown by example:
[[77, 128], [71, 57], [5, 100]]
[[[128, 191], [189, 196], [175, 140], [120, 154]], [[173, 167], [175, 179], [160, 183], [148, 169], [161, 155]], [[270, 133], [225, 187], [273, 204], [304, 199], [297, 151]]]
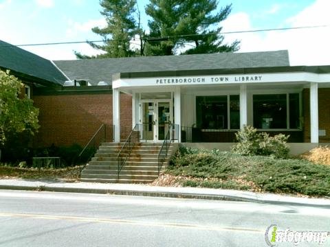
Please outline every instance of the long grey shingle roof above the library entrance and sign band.
[[289, 66], [289, 54], [286, 50], [283, 50], [137, 58], [59, 60], [54, 62], [71, 80], [84, 79], [92, 85], [96, 85], [102, 81], [111, 84], [112, 75], [120, 72]]

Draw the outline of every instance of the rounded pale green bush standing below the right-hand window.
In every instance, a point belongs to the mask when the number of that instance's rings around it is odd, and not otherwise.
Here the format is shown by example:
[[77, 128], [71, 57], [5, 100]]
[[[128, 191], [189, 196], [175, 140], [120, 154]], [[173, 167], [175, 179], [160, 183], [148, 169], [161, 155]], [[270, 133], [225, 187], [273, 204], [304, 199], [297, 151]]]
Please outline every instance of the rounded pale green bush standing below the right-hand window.
[[270, 137], [265, 132], [258, 133], [252, 126], [244, 126], [236, 134], [236, 143], [232, 147], [232, 152], [241, 155], [263, 155], [273, 156], [274, 158], [287, 158], [289, 147], [285, 134], [276, 134]]

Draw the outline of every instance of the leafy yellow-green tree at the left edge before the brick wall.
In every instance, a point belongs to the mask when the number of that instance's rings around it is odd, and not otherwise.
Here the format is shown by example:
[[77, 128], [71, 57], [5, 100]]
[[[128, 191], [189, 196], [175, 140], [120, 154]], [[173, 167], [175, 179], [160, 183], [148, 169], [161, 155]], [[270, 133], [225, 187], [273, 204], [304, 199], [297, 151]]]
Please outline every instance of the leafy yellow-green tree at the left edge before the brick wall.
[[39, 109], [33, 106], [32, 99], [20, 98], [22, 89], [22, 82], [10, 71], [0, 71], [0, 146], [8, 136], [34, 134], [39, 128]]

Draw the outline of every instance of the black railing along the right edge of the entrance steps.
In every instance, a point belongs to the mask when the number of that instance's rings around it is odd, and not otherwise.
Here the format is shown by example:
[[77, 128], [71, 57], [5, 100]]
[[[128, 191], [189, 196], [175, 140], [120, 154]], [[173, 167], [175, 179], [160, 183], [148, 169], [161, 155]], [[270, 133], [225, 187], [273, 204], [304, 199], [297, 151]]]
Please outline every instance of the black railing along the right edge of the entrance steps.
[[178, 130], [179, 130], [179, 126], [177, 124], [168, 125], [168, 131], [166, 133], [162, 147], [160, 148], [159, 154], [158, 154], [158, 175], [159, 175], [160, 170], [162, 169], [164, 161], [166, 161], [166, 158], [168, 156], [168, 149], [170, 148], [170, 143], [173, 140], [179, 139]]

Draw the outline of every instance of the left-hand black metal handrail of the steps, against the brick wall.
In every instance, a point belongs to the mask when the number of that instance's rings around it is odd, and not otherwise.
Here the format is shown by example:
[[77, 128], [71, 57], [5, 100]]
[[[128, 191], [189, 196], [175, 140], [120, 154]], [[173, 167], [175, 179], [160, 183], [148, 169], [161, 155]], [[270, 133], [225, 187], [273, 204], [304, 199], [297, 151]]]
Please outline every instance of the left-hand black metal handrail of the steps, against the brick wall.
[[[95, 132], [95, 134], [93, 135], [93, 137], [91, 137], [91, 139], [89, 139], [89, 142], [85, 145], [85, 148], [83, 148], [83, 150], [80, 152], [80, 154], [77, 157], [76, 161], [80, 161], [83, 154], [85, 154], [87, 151], [91, 151], [91, 153], [89, 154], [89, 156], [86, 159], [86, 162], [84, 162], [83, 167], [81, 165], [81, 163], [79, 164], [79, 177], [81, 175], [81, 172], [83, 171], [83, 169], [86, 167], [87, 165], [87, 161], [89, 161], [91, 159], [92, 156], [94, 156], [94, 154], [96, 153], [96, 150], [100, 147], [101, 143], [104, 141], [107, 141], [107, 134], [109, 135], [109, 127], [106, 124], [102, 124], [100, 126], [100, 128], [98, 128], [98, 130]], [[111, 137], [113, 141], [113, 128], [114, 126], [111, 126]]]

